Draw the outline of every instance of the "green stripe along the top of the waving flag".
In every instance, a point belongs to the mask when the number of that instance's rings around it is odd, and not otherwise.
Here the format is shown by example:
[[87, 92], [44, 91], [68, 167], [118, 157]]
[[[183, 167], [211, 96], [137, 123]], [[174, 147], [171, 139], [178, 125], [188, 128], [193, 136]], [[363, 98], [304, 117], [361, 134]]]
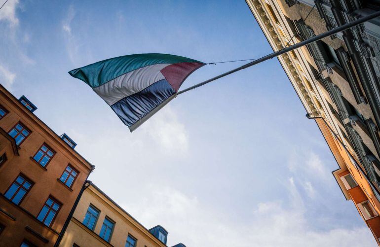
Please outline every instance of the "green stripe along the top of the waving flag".
[[133, 54], [110, 58], [94, 64], [84, 66], [69, 72], [75, 78], [87, 83], [92, 88], [99, 87], [114, 78], [154, 64], [176, 64], [176, 63], [199, 63], [202, 62], [170, 54], [148, 53]]

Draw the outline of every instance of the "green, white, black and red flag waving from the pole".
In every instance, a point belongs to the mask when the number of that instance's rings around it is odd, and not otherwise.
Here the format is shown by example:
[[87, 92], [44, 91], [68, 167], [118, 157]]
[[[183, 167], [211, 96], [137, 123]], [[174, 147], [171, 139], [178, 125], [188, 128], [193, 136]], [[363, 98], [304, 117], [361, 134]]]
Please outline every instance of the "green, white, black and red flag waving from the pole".
[[132, 132], [175, 98], [184, 80], [203, 65], [169, 54], [134, 54], [69, 73], [87, 83]]

